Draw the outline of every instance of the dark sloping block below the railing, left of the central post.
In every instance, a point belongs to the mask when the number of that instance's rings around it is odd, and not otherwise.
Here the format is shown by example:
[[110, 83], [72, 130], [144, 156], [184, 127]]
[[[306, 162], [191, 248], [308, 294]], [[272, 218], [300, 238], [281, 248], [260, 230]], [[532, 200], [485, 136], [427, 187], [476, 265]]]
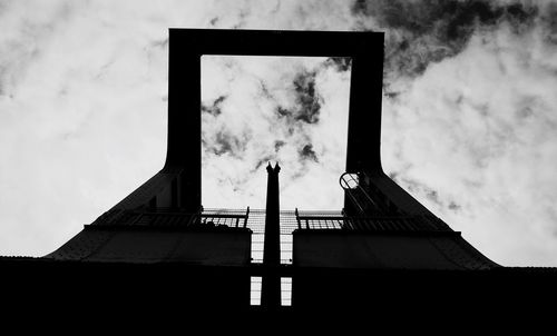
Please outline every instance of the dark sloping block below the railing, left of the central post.
[[101, 227], [85, 229], [45, 258], [100, 263], [250, 264], [251, 231], [244, 228]]

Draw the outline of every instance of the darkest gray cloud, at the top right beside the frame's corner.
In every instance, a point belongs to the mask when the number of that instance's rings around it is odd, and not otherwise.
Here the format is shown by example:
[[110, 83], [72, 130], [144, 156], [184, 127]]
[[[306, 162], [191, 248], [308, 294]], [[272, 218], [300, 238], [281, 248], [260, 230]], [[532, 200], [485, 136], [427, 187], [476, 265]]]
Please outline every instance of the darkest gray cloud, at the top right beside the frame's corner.
[[540, 12], [534, 3], [483, 0], [356, 0], [352, 10], [372, 19], [362, 26], [387, 30], [388, 79], [422, 75], [431, 62], [460, 53], [478, 30], [502, 23], [517, 33], [531, 29]]

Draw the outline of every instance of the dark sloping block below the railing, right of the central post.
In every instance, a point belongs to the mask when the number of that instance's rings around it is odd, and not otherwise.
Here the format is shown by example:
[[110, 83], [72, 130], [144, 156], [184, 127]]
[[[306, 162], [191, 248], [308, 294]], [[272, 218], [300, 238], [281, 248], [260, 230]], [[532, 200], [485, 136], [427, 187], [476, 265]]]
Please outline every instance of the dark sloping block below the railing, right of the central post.
[[490, 269], [499, 267], [459, 233], [294, 233], [293, 265], [387, 269]]

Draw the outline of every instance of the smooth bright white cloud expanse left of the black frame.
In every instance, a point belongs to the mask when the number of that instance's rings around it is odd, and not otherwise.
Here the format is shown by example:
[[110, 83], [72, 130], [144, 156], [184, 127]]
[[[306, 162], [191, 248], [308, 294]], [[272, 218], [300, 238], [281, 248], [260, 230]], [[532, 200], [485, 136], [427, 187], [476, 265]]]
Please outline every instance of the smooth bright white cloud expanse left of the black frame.
[[0, 254], [50, 253], [162, 167], [168, 55], [156, 41], [203, 17], [136, 6], [2, 2]]

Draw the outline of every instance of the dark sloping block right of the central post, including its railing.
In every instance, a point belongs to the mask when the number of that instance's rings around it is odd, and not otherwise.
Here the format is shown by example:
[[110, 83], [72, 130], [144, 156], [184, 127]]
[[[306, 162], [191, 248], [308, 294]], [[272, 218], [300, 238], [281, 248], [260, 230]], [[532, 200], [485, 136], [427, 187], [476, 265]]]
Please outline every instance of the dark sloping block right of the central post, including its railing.
[[296, 211], [293, 265], [368, 269], [500, 267], [432, 215], [346, 217]]

